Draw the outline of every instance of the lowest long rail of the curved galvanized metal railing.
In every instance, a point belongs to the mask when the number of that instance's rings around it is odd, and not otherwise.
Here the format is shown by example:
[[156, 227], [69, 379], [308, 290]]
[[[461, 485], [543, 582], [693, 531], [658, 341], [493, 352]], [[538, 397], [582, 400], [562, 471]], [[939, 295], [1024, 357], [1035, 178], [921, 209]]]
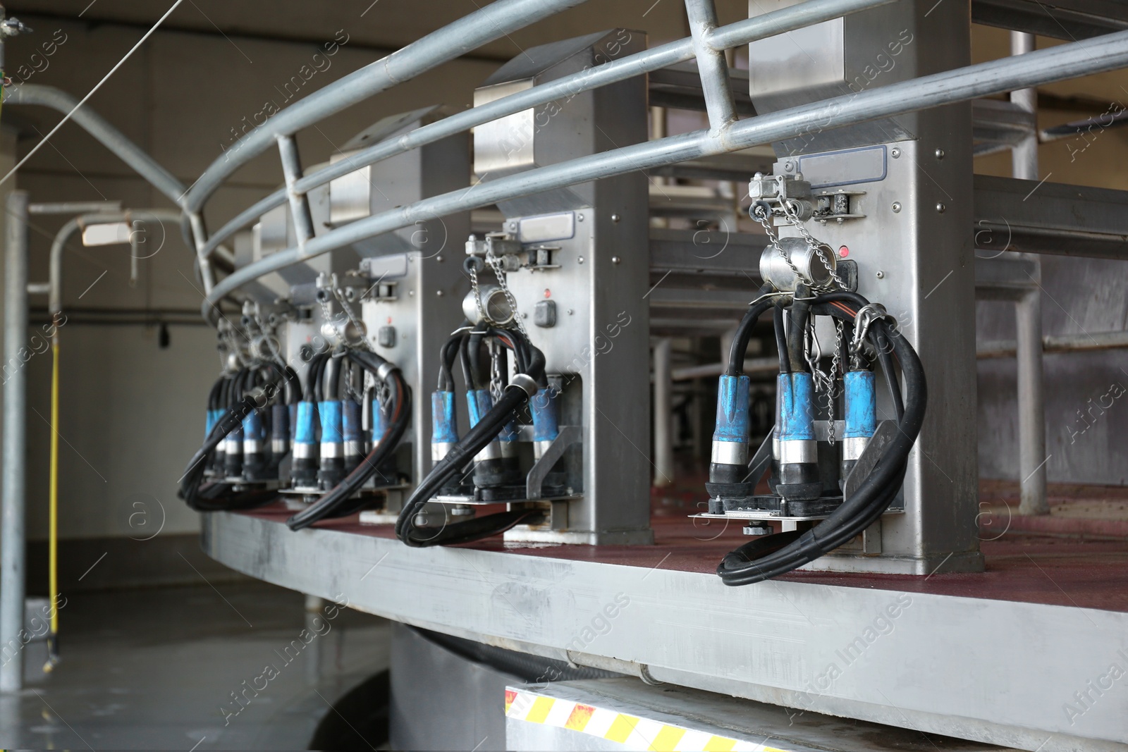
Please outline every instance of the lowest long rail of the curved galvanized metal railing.
[[783, 141], [802, 133], [817, 133], [976, 97], [1116, 70], [1126, 65], [1128, 65], [1128, 32], [1117, 32], [1021, 56], [1003, 57], [760, 115], [733, 123], [715, 134], [708, 131], [695, 131], [541, 167], [490, 183], [479, 183], [473, 191], [452, 191], [358, 220], [314, 238], [306, 244], [305, 253], [289, 248], [245, 266], [215, 285], [204, 300], [203, 315], [211, 320], [209, 311], [215, 302], [239, 285], [263, 274], [276, 272], [359, 240], [409, 227], [416, 220], [430, 220], [515, 196], [543, 193], [623, 172]]

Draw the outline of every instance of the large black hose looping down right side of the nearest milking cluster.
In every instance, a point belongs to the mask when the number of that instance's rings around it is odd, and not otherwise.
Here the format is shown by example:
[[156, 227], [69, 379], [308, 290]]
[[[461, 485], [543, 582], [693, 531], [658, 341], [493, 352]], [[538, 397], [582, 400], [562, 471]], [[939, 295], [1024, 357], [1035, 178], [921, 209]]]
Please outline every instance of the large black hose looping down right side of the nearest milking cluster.
[[[837, 295], [853, 293], [830, 293], [821, 300], [844, 300]], [[856, 295], [865, 304], [861, 295]], [[820, 302], [821, 302], [820, 300]], [[858, 300], [849, 300], [857, 304]], [[843, 316], [845, 311], [836, 313]], [[856, 311], [855, 311], [856, 315]], [[881, 319], [871, 325], [874, 340], [883, 335], [892, 347], [901, 365], [907, 396], [904, 416], [898, 422], [899, 431], [893, 436], [885, 453], [853, 496], [847, 498], [826, 520], [801, 534], [794, 531], [767, 536], [746, 543], [729, 554], [717, 567], [717, 575], [726, 585], [747, 585], [761, 582], [795, 569], [823, 556], [847, 542], [873, 523], [897, 496], [907, 467], [909, 451], [924, 423], [927, 404], [927, 387], [924, 366], [908, 342]], [[896, 388], [896, 373], [884, 372], [891, 390]], [[897, 390], [899, 391], [899, 390]], [[782, 538], [782, 536], [785, 536]]]

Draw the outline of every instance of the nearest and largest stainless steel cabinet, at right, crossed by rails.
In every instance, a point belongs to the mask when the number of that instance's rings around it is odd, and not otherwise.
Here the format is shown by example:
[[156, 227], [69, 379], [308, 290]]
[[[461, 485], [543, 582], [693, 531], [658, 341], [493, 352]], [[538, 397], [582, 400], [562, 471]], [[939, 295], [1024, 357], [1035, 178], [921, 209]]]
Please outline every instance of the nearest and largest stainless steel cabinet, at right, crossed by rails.
[[[750, 94], [756, 110], [778, 112], [846, 88], [872, 90], [969, 64], [970, 6], [932, 5], [922, 10], [922, 3], [893, 2], [804, 29], [807, 36], [790, 34], [781, 42], [784, 46], [752, 43]], [[791, 52], [795, 46], [800, 54]], [[867, 68], [875, 55], [897, 60], [876, 79]], [[959, 103], [858, 126], [834, 125], [812, 123], [803, 136], [774, 144], [777, 154], [785, 154], [774, 171], [813, 176], [825, 154], [845, 150], [851, 150], [852, 159], [867, 153], [873, 160], [871, 171], [851, 168], [847, 176], [831, 178], [825, 186], [865, 192], [857, 194], [856, 203], [865, 218], [841, 224], [809, 221], [807, 227], [831, 248], [866, 249], [852, 255], [858, 293], [880, 301], [916, 348], [928, 381], [928, 407], [907, 462], [901, 488], [905, 514], [882, 517], [881, 554], [866, 554], [865, 541], [857, 540], [808, 566], [925, 576], [981, 570], [975, 522], [971, 107]], [[805, 165], [802, 170], [799, 157]], [[892, 414], [891, 400], [883, 393], [878, 396], [878, 412], [882, 418]], [[871, 538], [876, 531], [874, 525]]]

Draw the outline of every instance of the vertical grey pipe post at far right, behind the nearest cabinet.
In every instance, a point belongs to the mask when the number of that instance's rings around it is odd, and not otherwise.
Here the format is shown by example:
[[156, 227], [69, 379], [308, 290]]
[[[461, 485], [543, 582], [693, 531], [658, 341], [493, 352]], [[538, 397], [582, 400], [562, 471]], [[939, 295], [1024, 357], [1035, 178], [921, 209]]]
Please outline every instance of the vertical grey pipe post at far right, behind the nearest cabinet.
[[[1011, 54], [1034, 51], [1034, 35], [1011, 32]], [[1011, 101], [1031, 114], [1038, 113], [1038, 90], [1011, 92]], [[1023, 180], [1038, 179], [1037, 130], [1014, 147], [1012, 175]], [[1041, 285], [1041, 258], [1024, 255], [1036, 265], [1036, 282]], [[1016, 363], [1019, 401], [1019, 514], [1048, 514], [1046, 498], [1046, 401], [1042, 390], [1042, 290], [1023, 295], [1014, 308], [1016, 324]]]

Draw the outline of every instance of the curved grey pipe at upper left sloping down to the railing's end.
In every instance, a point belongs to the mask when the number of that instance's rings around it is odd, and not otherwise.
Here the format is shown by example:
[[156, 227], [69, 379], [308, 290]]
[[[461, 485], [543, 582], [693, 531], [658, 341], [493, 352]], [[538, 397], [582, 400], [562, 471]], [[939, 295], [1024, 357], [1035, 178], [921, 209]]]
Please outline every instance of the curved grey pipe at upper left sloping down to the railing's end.
[[[148, 180], [152, 187], [168, 196], [177, 206], [184, 206], [184, 193], [187, 189], [176, 176], [161, 167], [139, 145], [125, 138], [121, 131], [111, 125], [106, 118], [90, 107], [79, 107], [79, 100], [53, 86], [23, 83], [6, 89], [6, 105], [39, 105], [51, 107], [61, 113], [70, 113], [71, 120], [87, 133], [98, 140], [102, 145], [117, 154], [118, 158]], [[77, 109], [76, 109], [77, 108]]]

